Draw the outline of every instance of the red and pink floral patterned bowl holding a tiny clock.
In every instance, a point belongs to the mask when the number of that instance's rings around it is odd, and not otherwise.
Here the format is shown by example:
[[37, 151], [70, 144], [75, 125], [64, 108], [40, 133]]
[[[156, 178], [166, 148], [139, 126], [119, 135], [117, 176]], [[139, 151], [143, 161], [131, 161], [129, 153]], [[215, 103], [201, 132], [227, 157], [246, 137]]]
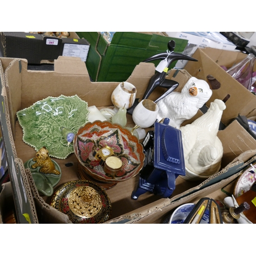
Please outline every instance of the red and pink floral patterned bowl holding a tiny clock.
[[[74, 153], [83, 169], [94, 180], [121, 182], [136, 176], [144, 165], [143, 146], [132, 133], [109, 121], [88, 122], [74, 137]], [[104, 172], [104, 166], [93, 156], [95, 151], [109, 146], [121, 159], [122, 167], [115, 176]]]

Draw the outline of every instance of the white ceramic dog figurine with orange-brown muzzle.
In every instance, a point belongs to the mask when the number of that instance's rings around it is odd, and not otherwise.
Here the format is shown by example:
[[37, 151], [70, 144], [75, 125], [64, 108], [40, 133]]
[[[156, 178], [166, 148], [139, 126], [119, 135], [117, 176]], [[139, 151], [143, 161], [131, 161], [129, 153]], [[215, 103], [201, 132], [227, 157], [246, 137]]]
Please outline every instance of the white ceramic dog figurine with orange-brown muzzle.
[[194, 117], [211, 97], [212, 91], [204, 80], [191, 77], [181, 92], [172, 92], [157, 102], [158, 120], [170, 119], [169, 125], [179, 129], [181, 123]]

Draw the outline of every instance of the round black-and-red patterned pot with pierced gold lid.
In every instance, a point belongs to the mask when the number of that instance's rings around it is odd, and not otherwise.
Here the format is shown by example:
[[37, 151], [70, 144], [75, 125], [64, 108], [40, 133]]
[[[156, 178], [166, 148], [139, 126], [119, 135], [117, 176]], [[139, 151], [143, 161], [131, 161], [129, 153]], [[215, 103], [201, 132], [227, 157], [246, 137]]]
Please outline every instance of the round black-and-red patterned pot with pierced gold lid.
[[66, 214], [74, 224], [103, 223], [112, 214], [111, 201], [105, 190], [88, 180], [61, 185], [51, 199], [51, 206]]

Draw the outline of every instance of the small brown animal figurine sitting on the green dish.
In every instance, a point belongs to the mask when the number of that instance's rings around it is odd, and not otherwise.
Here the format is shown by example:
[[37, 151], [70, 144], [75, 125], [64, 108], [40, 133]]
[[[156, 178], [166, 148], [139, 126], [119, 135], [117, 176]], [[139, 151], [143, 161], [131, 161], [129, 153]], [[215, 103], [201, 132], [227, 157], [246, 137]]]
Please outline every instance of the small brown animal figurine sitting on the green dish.
[[32, 164], [32, 168], [40, 167], [39, 172], [44, 174], [56, 174], [60, 175], [60, 172], [56, 170], [54, 163], [49, 157], [49, 151], [45, 146], [41, 147], [36, 152], [35, 158], [33, 158], [35, 164]]

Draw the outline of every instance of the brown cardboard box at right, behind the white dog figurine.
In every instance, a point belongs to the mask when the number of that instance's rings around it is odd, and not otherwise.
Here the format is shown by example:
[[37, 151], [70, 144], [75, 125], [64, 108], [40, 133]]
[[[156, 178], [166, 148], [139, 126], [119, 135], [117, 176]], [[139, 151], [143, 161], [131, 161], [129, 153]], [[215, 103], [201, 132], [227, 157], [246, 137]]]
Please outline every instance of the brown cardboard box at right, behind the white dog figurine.
[[[221, 99], [225, 102], [227, 108], [221, 119], [225, 125], [228, 125], [239, 114], [246, 117], [255, 116], [256, 96], [220, 67], [230, 68], [246, 56], [241, 52], [198, 48], [193, 55], [193, 58], [198, 61], [188, 61], [184, 67], [191, 76], [203, 79], [210, 84], [207, 75], [211, 75], [220, 83], [217, 89], [211, 87], [212, 96], [206, 105], [209, 107], [214, 99]], [[256, 66], [254, 66], [254, 71], [256, 71]]]

